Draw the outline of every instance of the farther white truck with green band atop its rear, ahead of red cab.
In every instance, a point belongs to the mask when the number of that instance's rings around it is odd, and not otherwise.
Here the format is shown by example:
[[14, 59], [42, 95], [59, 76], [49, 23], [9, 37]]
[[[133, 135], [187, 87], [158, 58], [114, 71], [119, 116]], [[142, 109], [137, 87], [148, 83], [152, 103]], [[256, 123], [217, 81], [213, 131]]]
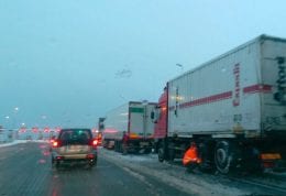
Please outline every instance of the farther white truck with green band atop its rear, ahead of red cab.
[[109, 111], [103, 121], [103, 146], [118, 152], [151, 152], [154, 123], [150, 113], [155, 106], [130, 101]]

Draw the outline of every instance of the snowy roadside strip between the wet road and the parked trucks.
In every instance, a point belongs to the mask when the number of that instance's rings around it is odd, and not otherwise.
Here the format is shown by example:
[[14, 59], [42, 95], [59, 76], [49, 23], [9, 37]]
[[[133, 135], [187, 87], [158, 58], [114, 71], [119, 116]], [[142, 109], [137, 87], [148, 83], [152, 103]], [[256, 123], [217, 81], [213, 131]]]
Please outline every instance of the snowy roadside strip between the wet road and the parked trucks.
[[186, 173], [180, 166], [158, 163], [156, 155], [121, 155], [100, 149], [99, 156], [112, 163], [128, 167], [133, 173], [145, 174], [191, 195], [250, 195], [249, 192], [223, 185], [207, 175]]

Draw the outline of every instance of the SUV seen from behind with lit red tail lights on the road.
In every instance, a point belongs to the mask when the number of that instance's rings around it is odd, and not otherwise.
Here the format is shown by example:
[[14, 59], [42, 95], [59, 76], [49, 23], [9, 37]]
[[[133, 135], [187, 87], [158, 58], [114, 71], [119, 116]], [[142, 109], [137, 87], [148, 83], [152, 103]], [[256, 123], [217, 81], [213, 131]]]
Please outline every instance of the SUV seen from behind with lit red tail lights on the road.
[[52, 164], [85, 162], [89, 167], [97, 164], [97, 140], [90, 129], [62, 129], [52, 144]]

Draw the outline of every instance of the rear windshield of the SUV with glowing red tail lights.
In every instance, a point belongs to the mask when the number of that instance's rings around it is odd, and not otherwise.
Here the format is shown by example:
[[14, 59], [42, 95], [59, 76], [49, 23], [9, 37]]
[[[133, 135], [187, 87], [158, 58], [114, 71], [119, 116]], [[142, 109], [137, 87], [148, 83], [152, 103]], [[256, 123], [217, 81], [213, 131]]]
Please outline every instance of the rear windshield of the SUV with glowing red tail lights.
[[88, 144], [92, 137], [89, 129], [64, 129], [58, 139], [63, 144]]

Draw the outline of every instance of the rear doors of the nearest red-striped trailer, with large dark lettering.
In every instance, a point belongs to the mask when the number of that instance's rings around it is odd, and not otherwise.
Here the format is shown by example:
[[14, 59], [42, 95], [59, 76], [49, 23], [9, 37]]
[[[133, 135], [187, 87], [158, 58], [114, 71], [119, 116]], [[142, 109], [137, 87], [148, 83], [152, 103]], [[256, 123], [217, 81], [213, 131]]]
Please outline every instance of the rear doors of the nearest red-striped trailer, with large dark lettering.
[[263, 130], [286, 134], [286, 42], [266, 40], [262, 56]]

